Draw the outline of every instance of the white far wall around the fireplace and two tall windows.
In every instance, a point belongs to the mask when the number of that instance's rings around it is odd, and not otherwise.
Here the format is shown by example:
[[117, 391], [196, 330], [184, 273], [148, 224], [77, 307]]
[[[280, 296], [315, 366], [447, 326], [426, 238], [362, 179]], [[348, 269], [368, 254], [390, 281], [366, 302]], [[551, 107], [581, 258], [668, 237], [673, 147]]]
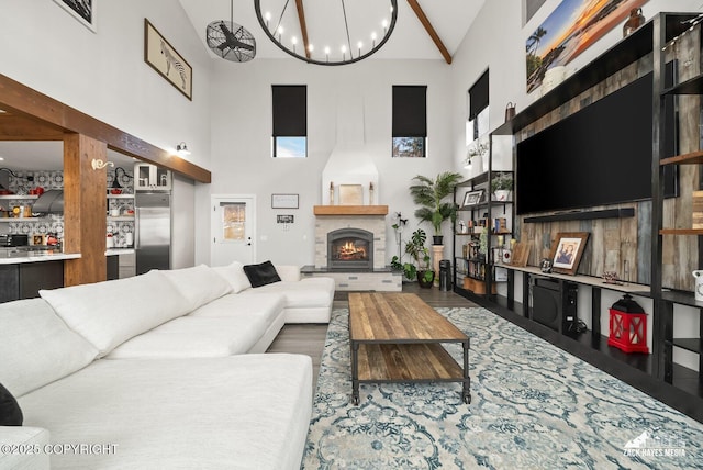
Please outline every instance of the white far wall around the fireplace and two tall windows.
[[[409, 217], [408, 232], [417, 226], [408, 187], [417, 174], [434, 177], [451, 166], [451, 126], [448, 93], [450, 66], [442, 60], [365, 60], [343, 67], [308, 65], [294, 59], [255, 59], [245, 65], [221, 61], [213, 68], [212, 175], [210, 193], [254, 193], [258, 200], [259, 260], [312, 265], [314, 216], [312, 206], [326, 204], [321, 194], [322, 171], [334, 145], [337, 101], [343, 94], [362, 100], [366, 144], [379, 171], [376, 188], [379, 204], [389, 205], [387, 225], [390, 257], [393, 242], [392, 214]], [[308, 86], [306, 159], [272, 159], [271, 85]], [[428, 157], [391, 158], [391, 96], [393, 85], [427, 85]], [[335, 181], [335, 183], [343, 181]], [[272, 210], [271, 193], [300, 194], [300, 209]], [[198, 206], [207, 206], [209, 194], [198, 194]], [[283, 232], [276, 214], [292, 214], [294, 224]], [[208, 215], [198, 215], [207, 227]], [[448, 225], [448, 224], [447, 224]], [[425, 224], [425, 231], [431, 227]], [[447, 227], [447, 235], [449, 235]], [[197, 262], [209, 256], [209, 234], [198, 234]], [[449, 256], [450, 246], [446, 247]]]

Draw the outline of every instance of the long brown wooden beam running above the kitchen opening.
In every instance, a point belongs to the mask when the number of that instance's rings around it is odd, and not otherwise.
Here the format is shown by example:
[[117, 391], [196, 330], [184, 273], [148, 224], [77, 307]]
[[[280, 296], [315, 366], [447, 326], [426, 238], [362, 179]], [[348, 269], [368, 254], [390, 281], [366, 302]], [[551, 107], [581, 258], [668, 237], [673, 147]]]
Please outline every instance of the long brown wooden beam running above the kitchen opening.
[[124, 131], [99, 121], [75, 108], [40, 93], [0, 74], [0, 108], [12, 114], [38, 120], [43, 125], [77, 133], [103, 142], [109, 148], [209, 183], [207, 169], [179, 158]]

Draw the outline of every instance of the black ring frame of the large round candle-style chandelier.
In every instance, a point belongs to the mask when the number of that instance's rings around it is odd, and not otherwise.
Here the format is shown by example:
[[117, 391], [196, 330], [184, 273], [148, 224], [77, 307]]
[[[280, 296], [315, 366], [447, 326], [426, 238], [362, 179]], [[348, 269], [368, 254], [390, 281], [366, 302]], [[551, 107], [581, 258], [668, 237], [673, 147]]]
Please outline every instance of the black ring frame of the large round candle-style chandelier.
[[[398, 0], [387, 0], [387, 1], [389, 2], [390, 14], [391, 14], [390, 22], [388, 23], [387, 27], [383, 26], [384, 31], [380, 41], [377, 43], [376, 37], [372, 36], [373, 42], [372, 42], [371, 48], [369, 48], [366, 53], [362, 53], [360, 44], [359, 44], [359, 47], [356, 47], [356, 48], [352, 44], [348, 23], [347, 23], [347, 16], [346, 16], [345, 0], [339, 0], [339, 2], [342, 3], [342, 10], [344, 12], [344, 26], [346, 27], [346, 37], [347, 37], [347, 44], [343, 45], [342, 59], [339, 59], [334, 55], [331, 55], [330, 47], [327, 46], [325, 46], [325, 48], [322, 51], [305, 51], [305, 47], [303, 46], [299, 51], [295, 47], [297, 42], [293, 41], [291, 43], [292, 48], [287, 47], [281, 41], [282, 38], [281, 34], [279, 34], [278, 37], [276, 37], [276, 33], [279, 30], [279, 25], [280, 25], [280, 19], [278, 20], [277, 24], [272, 24], [274, 29], [271, 30], [269, 27], [269, 19], [267, 19], [261, 13], [261, 0], [254, 1], [254, 9], [256, 10], [256, 18], [258, 19], [259, 24], [261, 25], [261, 30], [264, 30], [268, 38], [271, 40], [274, 44], [276, 44], [281, 51], [308, 64], [337, 66], [337, 65], [354, 64], [359, 60], [364, 60], [365, 58], [378, 52], [388, 42], [388, 40], [391, 37], [393, 29], [395, 27], [395, 21], [398, 20]], [[286, 1], [286, 4], [283, 5], [283, 11], [280, 13], [279, 18], [282, 18], [283, 14], [286, 13], [286, 9], [288, 8], [289, 2], [290, 0]], [[348, 47], [348, 49], [345, 49], [345, 46]], [[355, 49], [357, 51], [356, 55], [354, 54]], [[348, 51], [348, 56], [344, 51]], [[320, 58], [315, 58], [316, 56], [314, 56], [313, 54], [317, 54]]]

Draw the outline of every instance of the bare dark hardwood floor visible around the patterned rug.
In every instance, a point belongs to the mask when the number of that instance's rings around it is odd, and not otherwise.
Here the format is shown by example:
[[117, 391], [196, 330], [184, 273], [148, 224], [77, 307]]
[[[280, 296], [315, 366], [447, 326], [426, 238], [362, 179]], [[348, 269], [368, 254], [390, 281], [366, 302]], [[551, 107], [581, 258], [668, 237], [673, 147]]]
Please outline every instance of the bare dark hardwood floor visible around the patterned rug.
[[[450, 291], [440, 291], [434, 287], [432, 289], [421, 289], [416, 282], [403, 284], [403, 292], [416, 293], [429, 306], [435, 309], [442, 306], [477, 306]], [[335, 292], [334, 309], [347, 309], [349, 306], [348, 292]], [[283, 325], [267, 352], [291, 352], [308, 355], [312, 358], [313, 390], [317, 385], [317, 372], [320, 371], [320, 360], [325, 346], [327, 335], [326, 324], [290, 324]]]

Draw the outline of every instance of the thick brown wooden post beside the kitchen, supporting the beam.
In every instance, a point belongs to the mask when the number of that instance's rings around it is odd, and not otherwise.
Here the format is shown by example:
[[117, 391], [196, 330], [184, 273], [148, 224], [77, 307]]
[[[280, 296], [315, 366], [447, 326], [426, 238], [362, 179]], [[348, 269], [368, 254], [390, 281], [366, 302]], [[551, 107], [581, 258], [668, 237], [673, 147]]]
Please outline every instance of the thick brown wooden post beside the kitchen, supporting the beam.
[[79, 259], [64, 261], [64, 284], [104, 281], [107, 178], [93, 170], [93, 158], [105, 160], [108, 146], [80, 134], [64, 136], [64, 251], [80, 253]]

